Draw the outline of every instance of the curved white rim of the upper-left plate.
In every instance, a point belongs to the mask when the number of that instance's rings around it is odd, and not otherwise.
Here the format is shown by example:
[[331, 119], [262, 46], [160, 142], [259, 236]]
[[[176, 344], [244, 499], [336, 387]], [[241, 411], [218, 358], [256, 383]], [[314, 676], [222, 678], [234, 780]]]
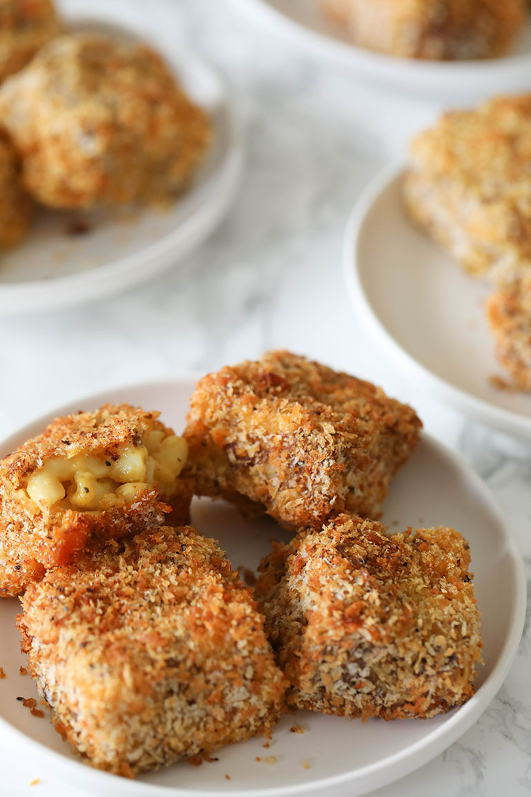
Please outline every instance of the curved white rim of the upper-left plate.
[[[127, 19], [117, 18], [111, 9], [104, 14], [96, 11], [91, 13], [90, 10], [77, 14], [61, 8], [61, 16], [68, 25], [72, 26], [99, 24], [103, 27], [111, 26], [116, 30], [122, 29], [123, 32], [140, 38], [156, 49], [170, 65], [174, 74], [178, 73], [178, 65], [185, 63], [188, 71], [208, 76], [209, 80], [221, 89], [224, 98], [228, 147], [222, 155], [221, 162], [209, 175], [209, 178], [215, 178], [220, 183], [215, 193], [209, 194], [209, 201], [206, 203], [203, 201], [184, 222], [179, 223], [162, 238], [146, 243], [141, 249], [136, 249], [105, 265], [61, 277], [44, 277], [22, 282], [0, 281], [0, 315], [8, 316], [33, 310], [46, 311], [64, 305], [71, 307], [97, 299], [104, 300], [171, 269], [201, 245], [202, 241], [209, 238], [221, 223], [232, 206], [243, 175], [245, 156], [243, 118], [236, 107], [228, 82], [207, 59], [189, 49], [181, 41], [174, 41], [174, 46], [170, 49], [163, 37], [158, 38], [151, 31], [141, 30], [138, 25]], [[201, 190], [202, 185], [204, 183], [201, 179], [197, 183], [192, 183], [183, 194], [183, 198], [192, 195], [196, 188]], [[176, 199], [176, 203], [178, 202], [179, 198]], [[175, 249], [178, 249], [176, 253]], [[122, 282], [124, 275], [128, 277], [125, 283]], [[63, 295], [64, 293], [67, 295]]]

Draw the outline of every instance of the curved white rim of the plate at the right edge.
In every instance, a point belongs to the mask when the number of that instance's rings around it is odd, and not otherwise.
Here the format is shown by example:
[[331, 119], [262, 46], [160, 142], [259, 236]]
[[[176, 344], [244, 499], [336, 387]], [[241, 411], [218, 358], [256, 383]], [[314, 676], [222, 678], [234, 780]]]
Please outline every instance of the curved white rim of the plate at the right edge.
[[[365, 292], [361, 278], [359, 253], [361, 234], [373, 205], [385, 193], [385, 190], [392, 189], [398, 181], [403, 179], [406, 168], [407, 165], [400, 161], [392, 163], [391, 166], [380, 171], [362, 191], [349, 213], [343, 234], [342, 265], [343, 278], [346, 281], [351, 304], [363, 316], [365, 324], [370, 329], [370, 336], [377, 340], [381, 349], [391, 356], [396, 366], [407, 368], [410, 374], [416, 378], [420, 387], [424, 387], [424, 390], [431, 395], [431, 398], [453, 407], [474, 421], [480, 420], [486, 426], [494, 426], [495, 429], [511, 435], [523, 432], [525, 437], [531, 440], [531, 418], [514, 410], [497, 406], [484, 398], [478, 398], [463, 388], [447, 382], [446, 379], [436, 375], [420, 363], [416, 357], [409, 354], [388, 332]], [[436, 245], [435, 242], [433, 245]]]

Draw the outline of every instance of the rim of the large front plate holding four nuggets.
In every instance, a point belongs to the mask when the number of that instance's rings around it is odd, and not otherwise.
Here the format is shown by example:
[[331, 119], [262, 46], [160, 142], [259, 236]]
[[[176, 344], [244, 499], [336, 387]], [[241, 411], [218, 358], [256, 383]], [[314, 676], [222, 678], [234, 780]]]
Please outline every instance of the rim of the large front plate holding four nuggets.
[[[161, 389], [170, 391], [183, 389], [188, 390], [189, 386], [193, 386], [193, 383], [195, 383], [196, 380], [197, 374], [189, 373], [167, 379], [149, 379], [141, 382], [125, 383], [121, 387], [110, 387], [106, 390], [97, 391], [93, 394], [82, 395], [79, 398], [74, 398], [71, 401], [68, 401], [64, 405], [58, 406], [54, 410], [49, 410], [45, 414], [37, 416], [37, 418], [33, 418], [33, 420], [26, 422], [12, 434], [2, 438], [2, 440], [0, 440], [0, 452], [7, 446], [20, 445], [20, 443], [15, 441], [27, 436], [27, 434], [33, 434], [33, 432], [27, 431], [31, 427], [36, 426], [37, 424], [43, 426], [50, 422], [52, 418], [57, 417], [58, 414], [75, 411], [74, 408], [77, 409], [80, 405], [80, 402], [84, 402], [86, 404], [90, 402], [94, 403], [96, 406], [102, 402], [126, 400], [125, 394], [127, 394], [128, 391], [156, 391]], [[119, 396], [121, 396], [121, 398], [119, 398]], [[234, 797], [291, 797], [291, 795], [311, 795], [314, 792], [322, 790], [323, 788], [338, 789], [339, 793], [341, 792], [342, 787], [348, 787], [349, 784], [351, 784], [353, 787], [356, 787], [356, 784], [358, 784], [361, 786], [361, 791], [355, 791], [353, 793], [356, 795], [363, 795], [366, 794], [367, 791], [372, 791], [373, 789], [385, 786], [388, 783], [394, 783], [397, 779], [403, 777], [404, 775], [408, 775], [412, 771], [416, 771], [416, 769], [428, 763], [428, 761], [432, 760], [435, 758], [435, 756], [438, 756], [439, 753], [443, 752], [443, 750], [447, 749], [450, 744], [455, 742], [455, 740], [458, 740], [459, 737], [462, 736], [463, 733], [467, 732], [474, 722], [478, 720], [482, 713], [487, 709], [488, 705], [490, 705], [490, 702], [493, 700], [496, 693], [498, 693], [498, 689], [501, 688], [517, 654], [517, 649], [525, 622], [527, 587], [524, 562], [519, 544], [517, 542], [517, 537], [513, 532], [513, 528], [506, 519], [498, 500], [490, 492], [486, 482], [483, 481], [478, 473], [474, 471], [474, 469], [468, 464], [461, 453], [443, 445], [443, 443], [439, 442], [424, 431], [421, 432], [421, 438], [424, 440], [425, 444], [428, 445], [428, 447], [430, 447], [432, 450], [435, 450], [435, 453], [439, 457], [443, 457], [443, 459], [459, 469], [459, 472], [463, 473], [463, 476], [470, 480], [471, 484], [474, 486], [474, 489], [477, 490], [481, 496], [482, 502], [489, 507], [490, 512], [494, 516], [495, 520], [498, 521], [498, 524], [502, 529], [503, 538], [506, 543], [506, 552], [507, 555], [510, 556], [515, 575], [514, 611], [513, 618], [511, 619], [510, 634], [508, 635], [506, 644], [502, 650], [502, 654], [498, 658], [498, 662], [496, 662], [494, 665], [494, 669], [486, 678], [486, 681], [484, 681], [478, 688], [478, 691], [474, 693], [474, 696], [471, 697], [466, 704], [460, 706], [459, 709], [452, 713], [451, 716], [443, 722], [443, 724], [428, 733], [428, 736], [409, 745], [408, 748], [405, 748], [403, 751], [387, 756], [385, 759], [385, 766], [383, 768], [381, 762], [374, 762], [373, 764], [368, 764], [364, 768], [358, 769], [355, 776], [352, 775], [352, 772], [343, 772], [339, 775], [333, 775], [330, 777], [314, 780], [311, 783], [297, 783], [284, 787], [233, 789], [232, 791], [227, 791], [225, 789], [182, 789], [179, 787], [168, 787], [160, 786], [154, 783], [145, 783], [143, 781], [127, 780], [127, 794], [131, 794], [131, 797], [142, 797], [142, 795], [146, 795], [146, 797], [147, 795], [160, 795], [160, 797], [222, 797], [222, 795], [228, 795], [228, 797], [230, 797], [230, 795], [234, 795]], [[6, 742], [11, 743], [14, 741], [16, 743], [18, 740], [24, 744], [29, 744], [37, 756], [39, 756], [42, 760], [56, 761], [58, 764], [57, 772], [59, 773], [61, 773], [63, 768], [66, 768], [68, 771], [82, 775], [83, 772], [86, 774], [87, 767], [90, 768], [90, 765], [84, 764], [80, 760], [73, 758], [72, 754], [68, 756], [67, 753], [51, 750], [40, 741], [37, 741], [30, 736], [26, 736], [24, 732], [18, 730], [18, 728], [15, 728], [12, 724], [10, 724], [10, 722], [4, 720], [1, 716], [0, 733], [2, 736], [6, 737]], [[111, 773], [100, 771], [95, 768], [90, 768], [90, 771], [91, 779], [94, 778], [96, 781], [100, 781], [102, 784], [110, 783], [110, 780], [108, 779], [109, 776], [113, 779], [119, 777], [117, 775], [111, 775]], [[375, 775], [380, 776], [375, 777]], [[61, 774], [58, 774], [57, 777], [61, 780]], [[367, 779], [371, 779], [372, 782], [369, 786], [365, 787], [363, 786], [363, 783]], [[115, 783], [118, 787], [118, 782], [116, 780]]]

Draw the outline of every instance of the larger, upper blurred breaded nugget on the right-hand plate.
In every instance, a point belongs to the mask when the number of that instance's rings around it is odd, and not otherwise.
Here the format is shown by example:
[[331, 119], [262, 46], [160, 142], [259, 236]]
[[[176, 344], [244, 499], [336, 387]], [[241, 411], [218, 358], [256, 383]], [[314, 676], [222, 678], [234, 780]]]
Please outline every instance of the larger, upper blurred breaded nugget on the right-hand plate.
[[444, 114], [413, 139], [412, 218], [468, 272], [504, 285], [531, 267], [531, 94]]

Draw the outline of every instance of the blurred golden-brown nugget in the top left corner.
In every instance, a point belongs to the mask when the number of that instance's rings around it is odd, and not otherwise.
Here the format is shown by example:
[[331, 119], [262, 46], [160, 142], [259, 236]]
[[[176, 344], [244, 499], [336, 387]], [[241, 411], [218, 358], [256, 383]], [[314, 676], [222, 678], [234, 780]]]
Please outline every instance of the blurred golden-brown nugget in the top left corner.
[[51, 0], [0, 0], [0, 82], [61, 33]]

